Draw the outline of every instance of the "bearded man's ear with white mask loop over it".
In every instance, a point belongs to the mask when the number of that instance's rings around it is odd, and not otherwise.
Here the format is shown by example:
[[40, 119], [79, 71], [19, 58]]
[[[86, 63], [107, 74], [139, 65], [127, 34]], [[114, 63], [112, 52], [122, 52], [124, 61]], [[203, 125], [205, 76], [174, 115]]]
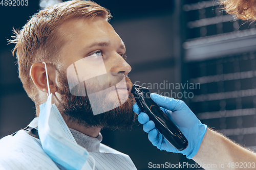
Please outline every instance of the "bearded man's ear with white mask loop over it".
[[[49, 76], [48, 78], [49, 78], [50, 92], [54, 93], [57, 91], [56, 82], [55, 82], [55, 71], [53, 71], [52, 67], [49, 64], [47, 65], [47, 72]], [[45, 64], [34, 63], [30, 68], [30, 76], [37, 89], [48, 93]]]

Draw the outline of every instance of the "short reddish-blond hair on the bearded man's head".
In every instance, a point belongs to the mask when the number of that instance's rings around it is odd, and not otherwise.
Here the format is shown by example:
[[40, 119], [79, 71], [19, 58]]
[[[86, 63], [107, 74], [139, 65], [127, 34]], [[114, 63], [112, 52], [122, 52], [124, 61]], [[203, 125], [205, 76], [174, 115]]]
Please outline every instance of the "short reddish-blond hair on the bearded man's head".
[[36, 62], [48, 62], [58, 67], [60, 56], [58, 52], [66, 42], [58, 28], [70, 18], [94, 18], [101, 16], [109, 20], [108, 10], [91, 1], [73, 0], [47, 7], [34, 14], [20, 31], [14, 31], [19, 78], [32, 101], [38, 98], [37, 90], [30, 77], [30, 68]]

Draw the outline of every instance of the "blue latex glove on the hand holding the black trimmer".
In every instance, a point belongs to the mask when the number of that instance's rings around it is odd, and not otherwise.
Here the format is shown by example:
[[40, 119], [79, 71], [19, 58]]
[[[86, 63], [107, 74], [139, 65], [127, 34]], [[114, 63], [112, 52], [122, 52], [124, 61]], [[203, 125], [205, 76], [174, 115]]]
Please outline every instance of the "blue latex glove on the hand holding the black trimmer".
[[141, 112], [137, 103], [133, 111], [138, 115], [139, 123], [143, 124], [143, 130], [148, 133], [148, 139], [159, 150], [167, 152], [182, 153], [188, 159], [193, 158], [198, 152], [203, 140], [207, 126], [202, 124], [197, 116], [181, 100], [167, 98], [165, 96], [151, 93], [151, 99], [160, 106], [163, 112], [176, 124], [188, 140], [188, 146], [183, 151], [178, 151], [170, 144], [163, 135], [155, 128], [155, 123], [149, 120], [146, 113]]

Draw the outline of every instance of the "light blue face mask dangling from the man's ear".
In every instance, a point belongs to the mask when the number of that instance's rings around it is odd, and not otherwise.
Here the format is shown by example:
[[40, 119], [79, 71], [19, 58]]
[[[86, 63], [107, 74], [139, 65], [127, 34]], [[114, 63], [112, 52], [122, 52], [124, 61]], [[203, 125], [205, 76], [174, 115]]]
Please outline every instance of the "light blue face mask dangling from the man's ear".
[[38, 118], [38, 135], [42, 149], [54, 162], [66, 169], [92, 169], [87, 161], [90, 156], [88, 151], [76, 143], [58, 108], [55, 104], [52, 105], [47, 67], [44, 64], [49, 95], [47, 102], [40, 105]]

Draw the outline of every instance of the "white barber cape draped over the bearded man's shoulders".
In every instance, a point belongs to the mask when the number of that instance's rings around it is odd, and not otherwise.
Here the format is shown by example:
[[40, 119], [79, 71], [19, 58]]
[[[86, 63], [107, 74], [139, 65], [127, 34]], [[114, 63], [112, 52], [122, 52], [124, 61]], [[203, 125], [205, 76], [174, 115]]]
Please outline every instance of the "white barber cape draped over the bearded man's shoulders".
[[[35, 118], [29, 127], [37, 127]], [[106, 145], [99, 144], [99, 152], [89, 152], [95, 159], [95, 169], [137, 169], [131, 158]], [[93, 160], [88, 158], [93, 167]], [[32, 137], [24, 130], [19, 130], [14, 136], [8, 135], [0, 140], [0, 169], [65, 169], [55, 163], [42, 149], [39, 139]]]

